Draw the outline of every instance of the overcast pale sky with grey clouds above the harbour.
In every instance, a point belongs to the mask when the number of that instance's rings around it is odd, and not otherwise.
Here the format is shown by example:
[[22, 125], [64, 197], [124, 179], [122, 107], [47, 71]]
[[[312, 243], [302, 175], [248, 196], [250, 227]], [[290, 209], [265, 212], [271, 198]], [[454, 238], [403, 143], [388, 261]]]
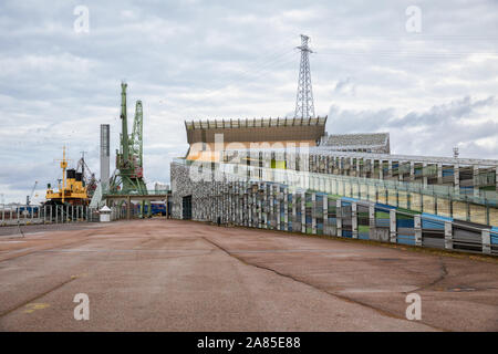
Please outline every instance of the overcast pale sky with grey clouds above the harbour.
[[390, 132], [393, 154], [498, 159], [496, 0], [2, 0], [0, 204], [25, 200], [35, 180], [43, 199], [64, 145], [98, 176], [100, 124], [114, 170], [123, 80], [128, 126], [144, 105], [149, 187], [185, 155], [186, 119], [292, 116], [301, 33], [329, 134]]

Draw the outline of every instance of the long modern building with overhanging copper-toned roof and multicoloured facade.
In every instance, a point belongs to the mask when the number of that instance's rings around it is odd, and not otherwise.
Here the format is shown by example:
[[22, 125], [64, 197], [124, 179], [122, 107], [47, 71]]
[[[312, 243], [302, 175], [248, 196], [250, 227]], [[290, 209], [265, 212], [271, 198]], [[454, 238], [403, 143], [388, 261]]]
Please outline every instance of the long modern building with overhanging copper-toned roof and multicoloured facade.
[[390, 154], [326, 117], [186, 123], [174, 218], [498, 254], [498, 160]]

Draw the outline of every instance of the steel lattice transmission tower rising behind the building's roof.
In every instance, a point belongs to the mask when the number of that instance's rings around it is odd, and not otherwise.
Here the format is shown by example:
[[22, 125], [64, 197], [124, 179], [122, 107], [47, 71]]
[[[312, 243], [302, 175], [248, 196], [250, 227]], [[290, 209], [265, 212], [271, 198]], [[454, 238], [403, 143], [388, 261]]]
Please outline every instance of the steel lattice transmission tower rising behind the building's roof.
[[309, 54], [313, 51], [308, 46], [308, 35], [301, 34], [301, 65], [299, 67], [298, 95], [295, 100], [295, 117], [314, 117], [313, 90], [311, 88], [311, 67]]

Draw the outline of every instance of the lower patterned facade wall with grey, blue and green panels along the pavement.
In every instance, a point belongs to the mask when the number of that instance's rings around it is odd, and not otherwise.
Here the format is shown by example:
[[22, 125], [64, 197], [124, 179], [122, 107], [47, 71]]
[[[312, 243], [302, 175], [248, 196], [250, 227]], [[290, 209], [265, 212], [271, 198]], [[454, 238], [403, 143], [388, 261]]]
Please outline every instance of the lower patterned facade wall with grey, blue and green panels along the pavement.
[[194, 183], [175, 163], [170, 170], [174, 218], [183, 218], [181, 199], [191, 196], [199, 221], [498, 254], [498, 228], [277, 183]]

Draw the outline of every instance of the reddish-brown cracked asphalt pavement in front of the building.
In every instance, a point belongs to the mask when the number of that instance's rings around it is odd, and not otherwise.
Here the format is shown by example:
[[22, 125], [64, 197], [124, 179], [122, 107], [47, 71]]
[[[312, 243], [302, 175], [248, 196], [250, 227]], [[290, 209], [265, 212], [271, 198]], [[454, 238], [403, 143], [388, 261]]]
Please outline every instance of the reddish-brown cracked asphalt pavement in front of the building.
[[0, 331], [498, 331], [494, 260], [166, 219], [12, 230]]

